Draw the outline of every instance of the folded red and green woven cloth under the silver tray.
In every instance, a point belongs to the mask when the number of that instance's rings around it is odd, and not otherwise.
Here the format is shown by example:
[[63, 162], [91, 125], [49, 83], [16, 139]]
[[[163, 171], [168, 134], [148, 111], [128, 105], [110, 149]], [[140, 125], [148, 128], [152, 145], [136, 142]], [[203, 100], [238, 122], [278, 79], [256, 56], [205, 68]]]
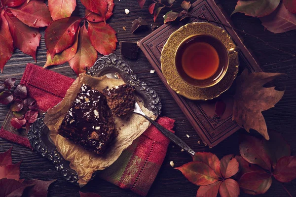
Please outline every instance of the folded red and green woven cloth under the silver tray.
[[[73, 82], [72, 78], [33, 64], [27, 65], [21, 80], [21, 84], [27, 86], [30, 97], [37, 101], [43, 112], [58, 104]], [[9, 111], [0, 130], [0, 137], [31, 148], [27, 133], [19, 132], [11, 126], [12, 117]], [[159, 117], [157, 122], [172, 131], [175, 121]], [[99, 172], [98, 176], [144, 197], [164, 160], [168, 144], [169, 140], [154, 126], [150, 126], [114, 164]]]

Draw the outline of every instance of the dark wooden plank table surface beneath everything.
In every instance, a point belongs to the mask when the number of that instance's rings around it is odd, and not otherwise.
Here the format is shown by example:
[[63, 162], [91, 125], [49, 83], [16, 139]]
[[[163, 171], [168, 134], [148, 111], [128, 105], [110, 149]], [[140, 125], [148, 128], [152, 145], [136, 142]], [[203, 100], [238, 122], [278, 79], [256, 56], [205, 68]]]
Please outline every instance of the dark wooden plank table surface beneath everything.
[[[162, 15], [167, 10], [162, 10], [160, 17], [156, 23], [153, 23], [152, 16], [148, 13], [148, 5], [152, 0], [147, 0], [143, 9], [140, 9], [136, 0], [114, 0], [115, 8], [114, 15], [108, 21], [108, 23], [117, 32], [117, 38], [119, 41], [137, 41], [146, 36], [150, 31], [132, 34], [131, 23], [138, 17], [143, 17], [149, 24], [162, 24]], [[237, 0], [221, 0], [222, 7], [227, 14], [231, 14]], [[178, 3], [181, 0], [177, 0]], [[176, 3], [177, 4], [177, 3]], [[128, 8], [130, 13], [125, 14], [124, 9]], [[83, 16], [84, 7], [77, 1], [77, 7], [73, 15]], [[296, 31], [288, 33], [273, 34], [268, 31], [264, 31], [261, 26], [260, 20], [244, 16], [243, 14], [235, 14], [232, 16], [234, 25], [240, 29], [245, 30], [248, 33], [252, 33], [267, 42], [275, 44], [284, 50], [296, 53]], [[126, 31], [122, 29], [126, 26]], [[43, 66], [46, 61], [46, 48], [44, 43], [44, 29], [41, 29], [41, 42], [40, 47], [37, 49], [37, 65]], [[296, 58], [291, 58], [289, 55], [281, 53], [277, 50], [271, 49], [265, 46], [259, 40], [254, 39], [247, 35], [242, 35], [245, 44], [254, 52], [258, 58], [262, 69], [266, 72], [283, 72], [287, 73], [286, 80], [279, 82], [281, 85], [286, 86], [286, 93], [283, 99], [276, 104], [272, 109], [263, 112], [268, 128], [279, 131], [283, 134], [284, 138], [288, 140], [292, 148], [292, 155], [296, 155]], [[294, 44], [294, 46], [292, 46]], [[119, 49], [115, 54], [119, 55]], [[239, 154], [238, 152], [238, 134], [239, 131], [228, 137], [222, 143], [216, 147], [209, 149], [208, 147], [198, 144], [200, 140], [197, 133], [193, 130], [190, 123], [185, 118], [184, 114], [176, 104], [170, 93], [166, 90], [157, 74], [150, 74], [149, 71], [152, 68], [148, 63], [148, 60], [142, 52], [139, 54], [137, 60], [127, 60], [134, 72], [145, 81], [149, 86], [153, 87], [160, 95], [163, 104], [162, 115], [168, 116], [176, 120], [175, 131], [176, 134], [182, 138], [187, 144], [189, 144], [195, 151], [211, 151], [217, 154], [219, 158], [222, 158], [227, 154]], [[16, 77], [17, 82], [22, 77], [27, 63], [34, 63], [31, 56], [23, 54], [20, 50], [16, 49], [12, 58], [8, 61], [4, 67], [4, 72], [0, 74], [0, 81], [9, 77]], [[74, 71], [70, 68], [69, 64], [62, 66], [53, 66], [51, 68], [55, 72], [59, 72], [69, 77], [75, 78]], [[8, 111], [7, 106], [0, 105], [0, 126], [5, 119]], [[185, 133], [190, 135], [190, 138], [185, 136]], [[21, 178], [22, 179], [34, 179], [41, 180], [58, 179], [49, 188], [50, 197], [78, 197], [79, 187], [74, 186], [61, 178], [60, 174], [55, 170], [54, 165], [46, 159], [42, 158], [36, 152], [32, 152], [28, 148], [16, 145], [7, 140], [0, 139], [0, 152], [6, 151], [10, 146], [14, 146], [12, 150], [13, 163], [23, 160], [21, 164]], [[180, 166], [191, 161], [191, 157], [185, 152], [181, 152], [180, 148], [172, 147], [171, 144], [168, 148], [167, 156], [164, 163], [148, 193], [148, 197], [195, 197], [198, 186], [191, 184], [181, 174], [180, 171], [173, 169], [169, 162], [174, 161], [175, 166]], [[290, 191], [292, 196], [296, 196], [296, 180], [291, 183], [284, 184]], [[109, 182], [95, 178], [84, 188], [82, 192], [94, 192], [100, 194], [102, 197], [137, 197], [136, 194], [122, 190]], [[242, 194], [241, 196], [248, 196]], [[266, 192], [268, 197], [286, 197], [288, 196], [282, 185], [273, 181], [272, 186]]]

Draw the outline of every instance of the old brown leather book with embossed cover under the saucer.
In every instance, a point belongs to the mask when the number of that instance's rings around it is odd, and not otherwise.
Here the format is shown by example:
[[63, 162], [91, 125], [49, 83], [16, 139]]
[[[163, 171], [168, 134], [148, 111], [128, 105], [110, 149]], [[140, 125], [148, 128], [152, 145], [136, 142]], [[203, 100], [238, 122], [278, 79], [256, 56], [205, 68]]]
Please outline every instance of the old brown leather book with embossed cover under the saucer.
[[[223, 24], [231, 26], [229, 18], [223, 14], [219, 4], [214, 0], [197, 0], [191, 6], [190, 14], [197, 17], [202, 17], [207, 20], [219, 21]], [[187, 23], [191, 22], [207, 22], [207, 20], [198, 20], [190, 18]], [[240, 71], [244, 68], [248, 68], [252, 72], [260, 72], [261, 69], [252, 56], [251, 52], [243, 44], [238, 34], [231, 28], [227, 28], [223, 25], [218, 25], [226, 30], [237, 46], [240, 47], [239, 60], [240, 60]], [[173, 98], [176, 100], [185, 116], [188, 118], [193, 128], [199, 134], [205, 145], [213, 147], [221, 142], [223, 139], [237, 131], [240, 127], [235, 121], [232, 121], [232, 107], [233, 100], [231, 94], [233, 94], [233, 83], [232, 87], [223, 93], [217, 99], [210, 101], [198, 101], [186, 99], [176, 92], [174, 92], [167, 84], [166, 79], [162, 75], [160, 65], [160, 55], [162, 47], [167, 41], [168, 37], [178, 30], [184, 23], [176, 24], [165, 24], [159, 27], [154, 32], [143, 38], [138, 42], [143, 53], [146, 55], [148, 61], [153, 66], [158, 76], [161, 78], [163, 83], [166, 85]], [[222, 117], [218, 117], [215, 113], [215, 103], [217, 100], [223, 100], [226, 103], [226, 110]]]

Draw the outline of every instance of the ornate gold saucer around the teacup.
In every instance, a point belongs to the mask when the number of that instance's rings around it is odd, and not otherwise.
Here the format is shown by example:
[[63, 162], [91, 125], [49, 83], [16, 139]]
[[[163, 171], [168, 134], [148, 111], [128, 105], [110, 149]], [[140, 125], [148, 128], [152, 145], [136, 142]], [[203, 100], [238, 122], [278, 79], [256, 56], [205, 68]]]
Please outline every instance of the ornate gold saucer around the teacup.
[[172, 33], [161, 51], [161, 70], [170, 87], [178, 94], [192, 100], [209, 100], [220, 96], [228, 90], [236, 78], [239, 66], [238, 52], [229, 55], [229, 66], [216, 85], [208, 88], [198, 88], [187, 84], [178, 74], [175, 66], [177, 48], [187, 37], [196, 34], [212, 35], [222, 41], [226, 49], [235, 47], [230, 35], [220, 27], [210, 23], [189, 23]]

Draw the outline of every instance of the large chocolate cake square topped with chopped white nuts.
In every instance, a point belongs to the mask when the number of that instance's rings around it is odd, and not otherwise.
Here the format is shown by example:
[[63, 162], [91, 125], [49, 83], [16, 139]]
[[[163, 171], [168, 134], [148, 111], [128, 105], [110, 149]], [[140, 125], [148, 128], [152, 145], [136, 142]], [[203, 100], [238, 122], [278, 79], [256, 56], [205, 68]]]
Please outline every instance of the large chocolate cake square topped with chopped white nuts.
[[102, 155], [113, 137], [114, 119], [106, 97], [83, 84], [58, 133]]

